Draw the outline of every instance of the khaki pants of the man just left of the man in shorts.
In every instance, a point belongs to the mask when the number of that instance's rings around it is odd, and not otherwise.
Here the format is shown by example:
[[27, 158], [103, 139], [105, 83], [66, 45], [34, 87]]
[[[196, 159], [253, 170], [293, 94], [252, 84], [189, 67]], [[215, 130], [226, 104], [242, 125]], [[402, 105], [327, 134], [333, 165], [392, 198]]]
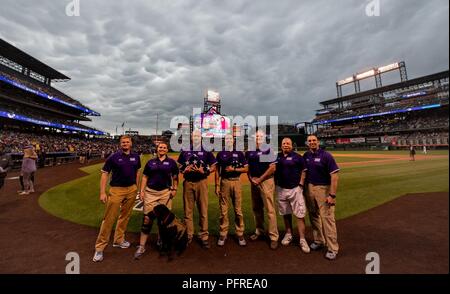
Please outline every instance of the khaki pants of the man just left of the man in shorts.
[[264, 207], [267, 212], [269, 237], [272, 241], [278, 241], [277, 213], [275, 211], [274, 191], [275, 182], [273, 178], [267, 179], [260, 185], [251, 185], [252, 206], [255, 216], [256, 230], [264, 233]]

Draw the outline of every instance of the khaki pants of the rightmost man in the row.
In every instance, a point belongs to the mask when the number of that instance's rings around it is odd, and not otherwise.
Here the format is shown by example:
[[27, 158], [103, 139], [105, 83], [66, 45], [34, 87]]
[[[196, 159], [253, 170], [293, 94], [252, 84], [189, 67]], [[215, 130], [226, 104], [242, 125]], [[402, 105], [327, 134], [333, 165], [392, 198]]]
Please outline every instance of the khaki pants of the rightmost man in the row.
[[325, 244], [329, 251], [337, 253], [335, 206], [326, 204], [330, 186], [308, 185], [306, 199], [308, 202], [309, 218], [313, 229], [314, 242]]

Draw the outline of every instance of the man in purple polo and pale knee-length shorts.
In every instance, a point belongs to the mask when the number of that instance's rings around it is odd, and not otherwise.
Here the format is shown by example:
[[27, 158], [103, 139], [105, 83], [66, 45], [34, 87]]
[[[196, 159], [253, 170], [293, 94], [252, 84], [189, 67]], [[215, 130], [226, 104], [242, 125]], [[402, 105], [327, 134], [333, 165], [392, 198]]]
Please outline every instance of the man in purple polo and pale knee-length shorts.
[[281, 244], [284, 246], [292, 242], [292, 214], [297, 217], [297, 229], [300, 237], [300, 248], [309, 253], [309, 245], [305, 239], [306, 206], [303, 198], [306, 166], [303, 157], [293, 151], [292, 140], [284, 138], [277, 157], [275, 183], [278, 195], [278, 210], [283, 216], [286, 234]]

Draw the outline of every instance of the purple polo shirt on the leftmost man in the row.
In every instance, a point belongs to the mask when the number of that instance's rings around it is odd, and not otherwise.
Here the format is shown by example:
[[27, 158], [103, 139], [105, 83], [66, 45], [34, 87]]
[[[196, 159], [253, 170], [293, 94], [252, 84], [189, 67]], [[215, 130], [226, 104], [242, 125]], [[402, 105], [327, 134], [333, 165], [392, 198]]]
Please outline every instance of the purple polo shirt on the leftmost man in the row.
[[102, 171], [111, 173], [111, 187], [130, 187], [136, 184], [136, 174], [141, 168], [139, 154], [131, 152], [129, 155], [117, 151], [106, 159]]

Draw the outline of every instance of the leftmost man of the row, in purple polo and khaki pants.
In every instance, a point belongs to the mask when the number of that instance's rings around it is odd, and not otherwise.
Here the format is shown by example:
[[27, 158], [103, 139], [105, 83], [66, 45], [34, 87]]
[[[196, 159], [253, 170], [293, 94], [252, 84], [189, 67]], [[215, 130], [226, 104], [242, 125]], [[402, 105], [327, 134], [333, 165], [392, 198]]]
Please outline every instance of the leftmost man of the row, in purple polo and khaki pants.
[[[103, 260], [103, 250], [106, 248], [111, 236], [112, 227], [117, 220], [114, 233], [113, 247], [128, 248], [130, 242], [125, 240], [125, 230], [130, 220], [133, 204], [136, 199], [138, 170], [141, 168], [141, 160], [137, 153], [131, 152], [131, 137], [120, 138], [120, 150], [113, 153], [102, 168], [100, 179], [100, 201], [106, 204], [105, 215], [100, 227], [100, 232], [95, 242], [94, 262]], [[109, 174], [111, 182], [109, 194], [106, 193], [106, 183]]]

